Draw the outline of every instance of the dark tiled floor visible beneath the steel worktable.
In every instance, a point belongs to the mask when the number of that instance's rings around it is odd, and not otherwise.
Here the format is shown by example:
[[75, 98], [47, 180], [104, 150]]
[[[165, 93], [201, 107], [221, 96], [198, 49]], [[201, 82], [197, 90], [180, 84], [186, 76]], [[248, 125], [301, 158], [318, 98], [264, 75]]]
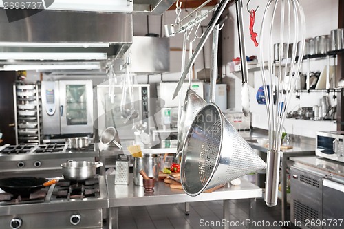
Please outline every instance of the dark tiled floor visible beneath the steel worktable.
[[[191, 228], [223, 228], [207, 226], [206, 223], [222, 223], [223, 201], [204, 201], [190, 203], [190, 214], [185, 215], [184, 204], [164, 204], [154, 206], [121, 207], [118, 210], [118, 226], [120, 229], [191, 229]], [[246, 228], [240, 225], [249, 219], [248, 199], [230, 201], [230, 228]], [[257, 226], [254, 228], [282, 228], [272, 226], [272, 222], [281, 221], [281, 203], [273, 208], [266, 206], [264, 199], [257, 199]], [[270, 227], [259, 222], [269, 221]], [[235, 223], [237, 222], [237, 223]]]

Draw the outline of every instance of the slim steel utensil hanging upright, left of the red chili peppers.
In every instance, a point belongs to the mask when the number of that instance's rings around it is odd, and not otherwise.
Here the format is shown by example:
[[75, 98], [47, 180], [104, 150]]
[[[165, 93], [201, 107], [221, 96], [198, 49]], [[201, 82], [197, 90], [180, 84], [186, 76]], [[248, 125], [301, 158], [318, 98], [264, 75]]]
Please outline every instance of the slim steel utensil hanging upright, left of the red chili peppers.
[[242, 78], [242, 85], [241, 85], [241, 107], [242, 113], [245, 116], [248, 116], [248, 112], [250, 112], [250, 94], [248, 90], [248, 83], [247, 83], [247, 61], [246, 61], [246, 49], [245, 49], [245, 39], [244, 39], [244, 28], [243, 28], [243, 21], [242, 21], [242, 1], [237, 0], [235, 1], [235, 6], [237, 8], [237, 28], [238, 28], [238, 36], [239, 36], [239, 49], [240, 49], [240, 64], [241, 64], [241, 78]]

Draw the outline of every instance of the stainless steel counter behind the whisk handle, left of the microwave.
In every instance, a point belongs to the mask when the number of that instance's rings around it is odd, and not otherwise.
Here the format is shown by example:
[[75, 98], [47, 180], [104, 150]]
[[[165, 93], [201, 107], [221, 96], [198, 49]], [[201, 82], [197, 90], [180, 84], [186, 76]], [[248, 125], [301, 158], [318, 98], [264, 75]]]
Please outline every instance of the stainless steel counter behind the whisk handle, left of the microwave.
[[[258, 144], [258, 138], [268, 138], [267, 131], [255, 131], [250, 132], [243, 131], [239, 132], [240, 135], [248, 142], [252, 149], [257, 149], [263, 153], [267, 153], [268, 148]], [[292, 135], [290, 140], [290, 146], [292, 149], [286, 149], [281, 151], [281, 194], [282, 194], [282, 221], [289, 221], [287, 219], [287, 162], [290, 157], [303, 157], [303, 156], [313, 156], [315, 155], [315, 139], [305, 138], [302, 136]]]

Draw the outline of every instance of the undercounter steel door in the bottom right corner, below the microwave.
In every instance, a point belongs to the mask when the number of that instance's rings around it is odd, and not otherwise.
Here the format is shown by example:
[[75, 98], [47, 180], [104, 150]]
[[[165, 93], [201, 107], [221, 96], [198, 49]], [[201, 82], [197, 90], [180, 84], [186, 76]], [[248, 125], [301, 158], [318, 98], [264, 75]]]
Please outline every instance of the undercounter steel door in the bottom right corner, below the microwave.
[[[327, 226], [323, 228], [343, 228], [344, 182], [323, 179], [323, 219]], [[331, 224], [330, 224], [331, 222]], [[335, 225], [336, 224], [336, 225]]]

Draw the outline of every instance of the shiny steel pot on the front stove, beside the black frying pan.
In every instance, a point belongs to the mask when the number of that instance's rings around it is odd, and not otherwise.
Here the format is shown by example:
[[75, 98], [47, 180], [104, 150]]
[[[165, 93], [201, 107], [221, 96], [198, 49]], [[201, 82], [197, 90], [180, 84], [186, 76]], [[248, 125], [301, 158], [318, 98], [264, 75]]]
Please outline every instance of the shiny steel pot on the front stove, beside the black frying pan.
[[93, 178], [96, 168], [103, 166], [102, 162], [65, 162], [61, 164], [62, 175], [70, 181], [84, 181]]

